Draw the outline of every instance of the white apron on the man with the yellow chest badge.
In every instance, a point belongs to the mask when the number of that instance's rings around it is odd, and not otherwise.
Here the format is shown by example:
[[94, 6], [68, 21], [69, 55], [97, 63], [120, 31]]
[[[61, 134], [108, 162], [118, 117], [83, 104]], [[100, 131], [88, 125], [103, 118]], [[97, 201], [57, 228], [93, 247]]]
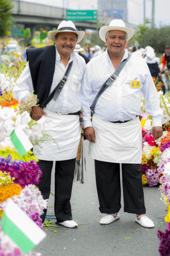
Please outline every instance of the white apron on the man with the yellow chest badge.
[[89, 155], [111, 163], [141, 164], [142, 127], [139, 116], [129, 122], [114, 124], [95, 113], [92, 118], [95, 143], [89, 143]]

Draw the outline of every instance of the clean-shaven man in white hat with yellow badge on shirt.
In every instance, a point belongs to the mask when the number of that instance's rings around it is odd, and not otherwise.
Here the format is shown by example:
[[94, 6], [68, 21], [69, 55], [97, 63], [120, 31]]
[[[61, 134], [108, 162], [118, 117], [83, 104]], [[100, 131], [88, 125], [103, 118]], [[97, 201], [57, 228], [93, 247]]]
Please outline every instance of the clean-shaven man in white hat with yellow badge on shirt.
[[[89, 155], [95, 159], [99, 210], [107, 213], [100, 224], [110, 224], [120, 218], [121, 163], [124, 211], [135, 213], [135, 221], [143, 227], [153, 228], [154, 223], [145, 215], [140, 165], [141, 93], [145, 97], [146, 111], [152, 116], [155, 139], [162, 135], [162, 110], [145, 60], [125, 48], [133, 34], [134, 29], [125, 27], [123, 20], [112, 20], [109, 26], [100, 28], [99, 36], [106, 42], [107, 49], [86, 66], [81, 87], [83, 120], [85, 136], [90, 141]], [[117, 75], [112, 75], [115, 70]], [[92, 108], [91, 122], [90, 106], [107, 80], [110, 84], [98, 97], [95, 109]]]

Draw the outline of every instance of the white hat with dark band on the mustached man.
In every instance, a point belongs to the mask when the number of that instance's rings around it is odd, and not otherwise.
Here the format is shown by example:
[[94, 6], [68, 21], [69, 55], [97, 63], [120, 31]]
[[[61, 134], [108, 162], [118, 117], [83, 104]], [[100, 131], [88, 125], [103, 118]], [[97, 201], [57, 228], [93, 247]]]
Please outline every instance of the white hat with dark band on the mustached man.
[[85, 34], [84, 31], [77, 31], [74, 23], [71, 20], [62, 20], [61, 23], [58, 25], [57, 30], [50, 30], [48, 32], [48, 36], [53, 42], [55, 42], [55, 36], [58, 33], [62, 32], [75, 32], [78, 36], [77, 43], [79, 43], [83, 39], [83, 36]]

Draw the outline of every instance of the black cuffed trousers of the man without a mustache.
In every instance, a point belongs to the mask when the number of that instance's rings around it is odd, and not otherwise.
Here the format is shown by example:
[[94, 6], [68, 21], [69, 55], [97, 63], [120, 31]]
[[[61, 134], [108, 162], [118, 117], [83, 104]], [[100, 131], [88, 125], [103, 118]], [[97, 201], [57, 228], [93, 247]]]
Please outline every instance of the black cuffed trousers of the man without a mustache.
[[[99, 210], [102, 213], [119, 212], [120, 164], [95, 160]], [[124, 212], [144, 214], [142, 169], [140, 164], [122, 164]]]

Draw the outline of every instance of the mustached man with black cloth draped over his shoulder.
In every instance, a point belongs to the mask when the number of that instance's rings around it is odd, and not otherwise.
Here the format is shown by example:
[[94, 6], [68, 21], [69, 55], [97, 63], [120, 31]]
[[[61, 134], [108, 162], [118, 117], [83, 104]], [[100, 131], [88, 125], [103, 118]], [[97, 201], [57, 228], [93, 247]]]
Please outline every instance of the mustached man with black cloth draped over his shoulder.
[[[44, 142], [40, 152], [34, 151], [43, 171], [37, 186], [44, 199], [49, 198], [51, 170], [53, 161], [56, 161], [54, 211], [57, 223], [77, 228], [77, 223], [72, 220], [70, 198], [81, 136], [79, 91], [86, 64], [73, 51], [84, 31], [77, 31], [72, 21], [63, 20], [57, 30], [48, 34], [55, 45], [27, 50], [28, 63], [15, 84], [13, 96], [21, 103], [27, 101], [32, 91], [37, 95], [40, 106], [32, 107], [31, 117], [39, 120], [44, 116], [44, 130], [58, 143], [57, 146], [53, 141]], [[56, 85], [57, 91], [53, 95]], [[49, 95], [52, 95], [50, 100]], [[43, 221], [45, 215], [46, 212], [42, 216]]]

